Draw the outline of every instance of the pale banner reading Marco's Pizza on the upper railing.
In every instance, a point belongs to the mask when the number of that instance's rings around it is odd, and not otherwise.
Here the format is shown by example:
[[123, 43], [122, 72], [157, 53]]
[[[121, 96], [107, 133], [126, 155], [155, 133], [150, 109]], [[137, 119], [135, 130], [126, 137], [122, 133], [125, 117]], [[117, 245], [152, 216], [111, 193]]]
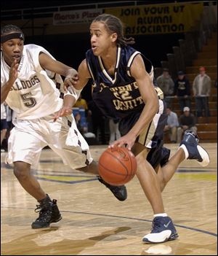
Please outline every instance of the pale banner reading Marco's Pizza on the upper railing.
[[102, 9], [72, 10], [67, 12], [54, 12], [53, 25], [68, 25], [91, 23], [95, 17], [102, 14]]

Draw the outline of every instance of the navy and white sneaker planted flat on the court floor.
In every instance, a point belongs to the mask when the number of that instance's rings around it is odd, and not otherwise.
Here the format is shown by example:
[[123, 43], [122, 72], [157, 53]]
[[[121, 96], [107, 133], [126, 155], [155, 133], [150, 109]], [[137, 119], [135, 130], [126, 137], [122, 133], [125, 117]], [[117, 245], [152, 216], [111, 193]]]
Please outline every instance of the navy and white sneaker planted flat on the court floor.
[[151, 232], [142, 238], [144, 243], [158, 244], [175, 240], [179, 236], [170, 217], [155, 217], [152, 222]]

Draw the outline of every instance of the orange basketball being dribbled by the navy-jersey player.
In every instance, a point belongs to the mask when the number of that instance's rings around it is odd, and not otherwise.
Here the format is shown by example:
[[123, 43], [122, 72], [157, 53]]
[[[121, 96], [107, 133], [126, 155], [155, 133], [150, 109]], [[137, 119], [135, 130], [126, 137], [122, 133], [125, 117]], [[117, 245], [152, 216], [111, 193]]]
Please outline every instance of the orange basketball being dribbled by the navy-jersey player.
[[110, 147], [100, 156], [98, 171], [105, 182], [121, 186], [136, 174], [137, 161], [126, 147]]

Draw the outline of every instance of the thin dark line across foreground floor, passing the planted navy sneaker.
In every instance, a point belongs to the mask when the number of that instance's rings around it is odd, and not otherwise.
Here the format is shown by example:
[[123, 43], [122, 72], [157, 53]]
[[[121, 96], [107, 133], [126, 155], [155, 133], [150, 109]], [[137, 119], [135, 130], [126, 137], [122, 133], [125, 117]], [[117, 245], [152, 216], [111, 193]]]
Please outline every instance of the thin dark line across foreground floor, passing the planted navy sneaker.
[[[12, 206], [1, 206], [1, 208], [24, 209], [24, 208], [21, 208], [21, 207], [12, 207]], [[34, 210], [33, 208], [25, 208], [25, 209]], [[65, 211], [65, 210], [61, 210], [60, 212], [67, 212], [67, 213], [73, 213], [73, 214], [95, 215], [95, 216], [103, 216], [103, 217], [113, 217], [113, 218], [126, 219], [126, 220], [139, 220], [139, 221], [142, 221], [142, 222], [152, 222], [152, 220], [145, 220], [145, 219], [134, 218], [134, 217], [117, 216], [117, 215], [110, 215], [110, 214], [95, 214], [95, 213], [92, 213], [92, 212], [76, 212], [76, 211]], [[212, 233], [212, 232], [202, 230], [202, 229], [199, 229], [199, 228], [191, 228], [191, 227], [187, 227], [185, 225], [178, 225], [178, 224], [174, 224], [174, 226], [176, 226], [178, 228], [185, 228], [185, 229], [189, 229], [189, 230], [193, 230], [193, 231], [196, 231], [196, 232], [205, 233], [207, 235], [217, 237], [216, 233]]]

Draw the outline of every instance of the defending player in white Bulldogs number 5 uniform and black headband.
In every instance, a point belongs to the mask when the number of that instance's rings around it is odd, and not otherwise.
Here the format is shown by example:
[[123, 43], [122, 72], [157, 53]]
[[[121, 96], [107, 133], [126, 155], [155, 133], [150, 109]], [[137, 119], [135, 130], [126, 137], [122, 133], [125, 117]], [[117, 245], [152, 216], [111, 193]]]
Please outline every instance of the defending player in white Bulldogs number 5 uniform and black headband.
[[[32, 228], [47, 228], [51, 222], [59, 221], [61, 214], [57, 201], [44, 193], [31, 174], [31, 166], [36, 168], [41, 150], [49, 145], [65, 164], [80, 171], [98, 174], [97, 164], [76, 128], [68, 104], [71, 98], [77, 100], [79, 90], [74, 90], [73, 95], [58, 90], [63, 88], [60, 75], [72, 85], [77, 71], [56, 61], [43, 47], [23, 44], [20, 28], [8, 25], [1, 29], [1, 103], [6, 101], [17, 115], [9, 136], [7, 163], [14, 163], [14, 174], [20, 184], [39, 201], [39, 217]], [[54, 122], [55, 112], [60, 109], [62, 115], [68, 117], [55, 118]], [[70, 146], [66, 145], [66, 139]], [[118, 200], [126, 199], [125, 186], [102, 183]]]

